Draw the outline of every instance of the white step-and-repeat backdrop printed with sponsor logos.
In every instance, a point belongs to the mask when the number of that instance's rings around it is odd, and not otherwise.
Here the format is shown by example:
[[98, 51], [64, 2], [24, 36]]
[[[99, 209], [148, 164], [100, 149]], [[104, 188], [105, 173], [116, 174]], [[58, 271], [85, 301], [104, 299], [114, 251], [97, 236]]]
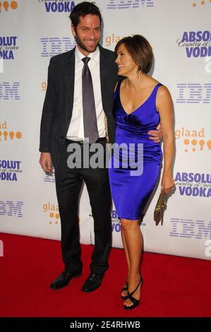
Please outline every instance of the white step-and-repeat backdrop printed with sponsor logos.
[[[39, 164], [40, 118], [47, 67], [75, 47], [68, 18], [80, 1], [0, 1], [0, 232], [60, 239], [54, 174]], [[176, 191], [163, 225], [153, 211], [160, 183], [140, 226], [144, 250], [211, 259], [211, 1], [96, 0], [104, 20], [102, 46], [140, 34], [155, 55], [152, 76], [174, 100]], [[140, 189], [141, 190], [141, 189]], [[121, 226], [111, 211], [113, 247]], [[85, 186], [80, 242], [94, 244]]]

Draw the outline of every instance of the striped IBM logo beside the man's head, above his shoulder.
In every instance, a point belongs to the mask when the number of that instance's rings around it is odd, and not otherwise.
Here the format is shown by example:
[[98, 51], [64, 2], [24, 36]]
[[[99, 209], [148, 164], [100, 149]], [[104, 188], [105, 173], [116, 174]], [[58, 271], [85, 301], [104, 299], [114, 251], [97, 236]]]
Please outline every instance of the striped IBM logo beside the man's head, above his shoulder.
[[68, 52], [76, 46], [76, 41], [70, 37], [40, 38], [42, 45], [41, 57], [54, 57], [54, 55]]

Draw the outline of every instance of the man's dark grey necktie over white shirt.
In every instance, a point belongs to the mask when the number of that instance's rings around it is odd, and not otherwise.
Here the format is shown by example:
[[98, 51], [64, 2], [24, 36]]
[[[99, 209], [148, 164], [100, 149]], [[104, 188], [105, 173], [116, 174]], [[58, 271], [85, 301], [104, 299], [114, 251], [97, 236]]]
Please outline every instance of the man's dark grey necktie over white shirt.
[[95, 97], [92, 85], [92, 75], [88, 67], [89, 57], [82, 59], [82, 95], [83, 95], [83, 126], [84, 136], [89, 138], [90, 144], [95, 143], [99, 137], [97, 130], [97, 117], [95, 110]]

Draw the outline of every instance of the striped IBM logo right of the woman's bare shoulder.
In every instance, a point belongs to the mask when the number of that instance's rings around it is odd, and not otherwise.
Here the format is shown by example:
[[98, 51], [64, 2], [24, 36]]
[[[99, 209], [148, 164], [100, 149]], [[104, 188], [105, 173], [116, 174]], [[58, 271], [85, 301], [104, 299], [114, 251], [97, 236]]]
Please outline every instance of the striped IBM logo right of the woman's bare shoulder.
[[210, 104], [211, 83], [178, 83], [178, 104]]

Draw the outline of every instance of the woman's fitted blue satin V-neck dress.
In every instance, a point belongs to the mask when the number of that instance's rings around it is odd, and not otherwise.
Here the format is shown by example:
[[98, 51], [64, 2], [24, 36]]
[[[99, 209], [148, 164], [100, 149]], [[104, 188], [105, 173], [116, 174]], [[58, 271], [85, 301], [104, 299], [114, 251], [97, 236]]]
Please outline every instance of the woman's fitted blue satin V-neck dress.
[[116, 86], [113, 109], [116, 148], [109, 160], [109, 182], [118, 218], [140, 218], [159, 176], [162, 150], [159, 143], [149, 139], [147, 131], [155, 130], [159, 124], [155, 101], [160, 85], [131, 114], [121, 105], [121, 81]]

